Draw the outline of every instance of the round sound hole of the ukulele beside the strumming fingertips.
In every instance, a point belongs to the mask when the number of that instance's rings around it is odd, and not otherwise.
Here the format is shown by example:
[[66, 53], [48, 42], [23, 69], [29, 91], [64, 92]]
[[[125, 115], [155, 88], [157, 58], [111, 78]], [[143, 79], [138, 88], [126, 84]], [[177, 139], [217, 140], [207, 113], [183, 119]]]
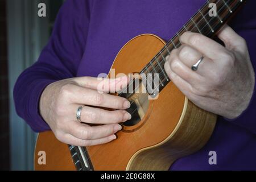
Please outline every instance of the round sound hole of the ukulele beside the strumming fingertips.
[[131, 107], [127, 109], [127, 112], [131, 114], [131, 119], [123, 122], [123, 126], [134, 126], [142, 121], [148, 109], [148, 94], [145, 93], [146, 89], [141, 80], [138, 80], [137, 84], [134, 82], [133, 88], [133, 93], [119, 94], [119, 96], [127, 98], [131, 103]]

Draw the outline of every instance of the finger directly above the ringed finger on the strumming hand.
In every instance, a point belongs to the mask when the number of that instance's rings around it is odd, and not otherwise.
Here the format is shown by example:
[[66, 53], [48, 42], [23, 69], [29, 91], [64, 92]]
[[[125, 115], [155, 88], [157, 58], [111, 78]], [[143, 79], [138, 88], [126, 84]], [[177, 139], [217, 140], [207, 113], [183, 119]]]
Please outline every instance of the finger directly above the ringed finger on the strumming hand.
[[130, 102], [123, 97], [113, 96], [106, 93], [98, 93], [97, 90], [73, 86], [72, 101], [75, 104], [108, 107], [112, 109], [127, 109]]

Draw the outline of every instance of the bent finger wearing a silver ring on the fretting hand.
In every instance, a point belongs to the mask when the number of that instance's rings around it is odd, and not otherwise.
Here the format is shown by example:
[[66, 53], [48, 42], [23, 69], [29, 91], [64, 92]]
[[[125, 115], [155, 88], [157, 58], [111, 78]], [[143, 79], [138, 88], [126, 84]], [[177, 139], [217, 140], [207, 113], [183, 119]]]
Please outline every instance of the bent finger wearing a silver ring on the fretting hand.
[[[191, 69], [192, 65], [196, 64], [203, 55], [191, 46], [183, 44], [178, 49], [177, 56], [182, 63], [184, 63], [189, 69]], [[199, 69], [197, 69], [196, 73], [201, 76], [209, 75], [209, 73], [213, 71], [213, 67], [213, 61], [210, 60], [208, 57], [204, 56], [204, 59], [200, 63]]]

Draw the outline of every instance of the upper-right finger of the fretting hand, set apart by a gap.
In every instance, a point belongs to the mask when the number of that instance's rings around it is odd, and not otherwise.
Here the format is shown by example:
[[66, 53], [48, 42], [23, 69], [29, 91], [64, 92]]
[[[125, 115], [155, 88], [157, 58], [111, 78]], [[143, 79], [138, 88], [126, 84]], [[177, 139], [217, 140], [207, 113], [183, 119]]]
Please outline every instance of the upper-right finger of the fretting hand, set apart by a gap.
[[238, 35], [237, 32], [227, 24], [218, 33], [218, 38], [224, 42], [226, 48], [229, 50], [235, 49], [244, 52], [247, 49], [245, 39]]

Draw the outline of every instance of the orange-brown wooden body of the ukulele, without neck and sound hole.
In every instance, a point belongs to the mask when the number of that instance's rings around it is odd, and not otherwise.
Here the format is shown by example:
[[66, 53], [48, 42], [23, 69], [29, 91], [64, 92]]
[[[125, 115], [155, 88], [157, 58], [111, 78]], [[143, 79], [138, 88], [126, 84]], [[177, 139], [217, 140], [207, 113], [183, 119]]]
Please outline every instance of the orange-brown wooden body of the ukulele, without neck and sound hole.
[[[116, 74], [140, 72], [164, 45], [158, 36], [139, 35], [119, 51], [112, 69]], [[141, 122], [124, 126], [113, 142], [86, 148], [95, 170], [168, 170], [176, 159], [207, 143], [216, 118], [192, 104], [170, 82], [157, 100], [149, 101]], [[39, 151], [46, 152], [46, 165], [38, 164]], [[35, 169], [76, 169], [67, 144], [59, 142], [51, 131], [38, 136]]]

